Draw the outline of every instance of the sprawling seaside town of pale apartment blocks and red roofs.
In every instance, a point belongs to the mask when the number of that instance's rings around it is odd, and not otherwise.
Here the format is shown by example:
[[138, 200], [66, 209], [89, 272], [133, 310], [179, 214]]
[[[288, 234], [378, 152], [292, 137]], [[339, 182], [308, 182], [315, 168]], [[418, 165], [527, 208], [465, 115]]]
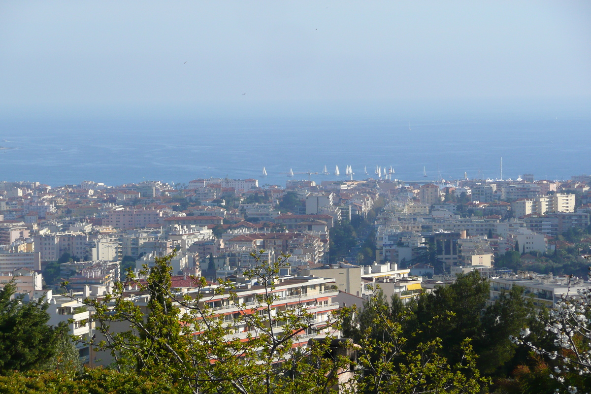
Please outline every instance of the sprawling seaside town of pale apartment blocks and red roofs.
[[[90, 338], [100, 333], [85, 299], [105, 297], [127, 271], [141, 281], [142, 267], [173, 252], [171, 288], [191, 294], [231, 282], [245, 303], [261, 292], [245, 271], [281, 260], [273, 306], [304, 305], [314, 322], [298, 343], [326, 335], [318, 328], [333, 312], [363, 308], [376, 288], [406, 304], [475, 271], [489, 280], [488, 304], [519, 285], [535, 307], [553, 308], [591, 285], [584, 259], [591, 176], [405, 183], [379, 175], [319, 184], [288, 178], [285, 187], [228, 178], [60, 187], [5, 181], [0, 286], [14, 280], [23, 302], [44, 297], [48, 323], [66, 322], [85, 338], [76, 343], [79, 358], [95, 367], [113, 359], [92, 350]], [[122, 294], [147, 302], [137, 286]], [[216, 294], [209, 301], [216, 314], [239, 312], [229, 293]], [[248, 325], [236, 332], [254, 334]]]

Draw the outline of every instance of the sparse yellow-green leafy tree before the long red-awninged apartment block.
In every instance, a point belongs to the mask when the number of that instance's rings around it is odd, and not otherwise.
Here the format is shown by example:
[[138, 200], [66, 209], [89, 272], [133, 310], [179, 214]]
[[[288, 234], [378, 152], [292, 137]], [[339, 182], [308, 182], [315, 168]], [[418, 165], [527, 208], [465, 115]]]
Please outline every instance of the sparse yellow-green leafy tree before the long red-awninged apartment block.
[[[332, 376], [345, 360], [324, 357], [328, 343], [310, 349], [296, 346], [301, 333], [316, 330], [305, 308], [277, 310], [272, 306], [278, 297], [275, 278], [285, 258], [267, 262], [259, 261], [261, 254], [253, 255], [259, 263], [244, 275], [262, 287], [255, 304], [247, 306], [239, 301], [238, 289], [229, 282], [213, 288], [213, 294], [200, 291], [206, 286], [203, 278], [195, 281], [197, 291], [177, 297], [170, 289], [172, 256], [155, 259], [147, 283], [137, 282], [150, 295], [146, 315], [131, 299], [123, 297], [125, 284], [116, 284], [113, 294], [104, 299], [86, 300], [96, 310], [93, 320], [97, 329], [108, 338], [96, 346], [112, 351], [119, 370], [158, 376], [194, 393], [331, 391]], [[131, 273], [128, 281], [134, 281]], [[210, 305], [212, 299], [228, 293], [230, 302], [240, 311], [230, 320], [219, 318]], [[132, 328], [113, 333], [113, 321], [125, 321]], [[326, 323], [329, 328], [333, 325]], [[244, 324], [257, 333], [249, 335], [247, 341], [233, 337]], [[278, 363], [281, 360], [284, 362]]]

